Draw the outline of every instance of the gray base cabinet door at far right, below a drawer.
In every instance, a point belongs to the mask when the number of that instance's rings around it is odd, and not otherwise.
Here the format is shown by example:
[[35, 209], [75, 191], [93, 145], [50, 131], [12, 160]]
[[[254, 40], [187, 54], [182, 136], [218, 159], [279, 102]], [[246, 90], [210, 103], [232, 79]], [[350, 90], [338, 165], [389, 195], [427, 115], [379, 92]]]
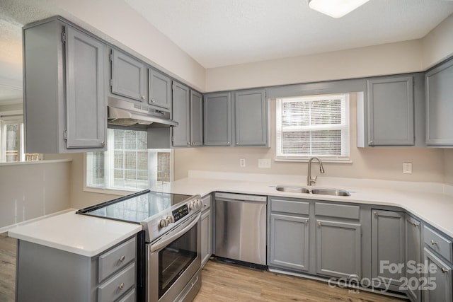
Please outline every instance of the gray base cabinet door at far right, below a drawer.
[[447, 265], [446, 262], [437, 257], [437, 255], [428, 248], [424, 249], [424, 254], [425, 265], [430, 268], [424, 276], [428, 280], [428, 284], [426, 284], [427, 289], [424, 291], [424, 301], [452, 301], [452, 267]]

